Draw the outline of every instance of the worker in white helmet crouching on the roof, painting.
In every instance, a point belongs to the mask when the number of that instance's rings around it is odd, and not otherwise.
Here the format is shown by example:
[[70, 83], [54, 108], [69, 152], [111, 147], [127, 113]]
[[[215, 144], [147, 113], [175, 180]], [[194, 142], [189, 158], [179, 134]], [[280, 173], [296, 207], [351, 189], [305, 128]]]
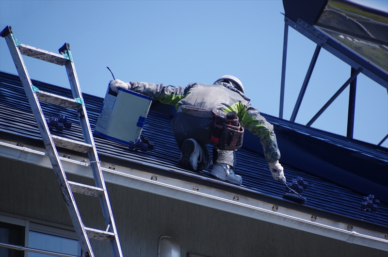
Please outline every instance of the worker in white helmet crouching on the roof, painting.
[[132, 90], [176, 107], [171, 128], [181, 152], [179, 165], [195, 172], [208, 168], [210, 152], [207, 145], [210, 144], [213, 145], [210, 175], [241, 185], [242, 177], [234, 173], [235, 150], [242, 146], [246, 128], [259, 136], [272, 176], [286, 182], [278, 161], [280, 152], [274, 128], [250, 104], [236, 77], [225, 75], [212, 85], [190, 83], [186, 87], [113, 80], [110, 88], [116, 93], [119, 88]]

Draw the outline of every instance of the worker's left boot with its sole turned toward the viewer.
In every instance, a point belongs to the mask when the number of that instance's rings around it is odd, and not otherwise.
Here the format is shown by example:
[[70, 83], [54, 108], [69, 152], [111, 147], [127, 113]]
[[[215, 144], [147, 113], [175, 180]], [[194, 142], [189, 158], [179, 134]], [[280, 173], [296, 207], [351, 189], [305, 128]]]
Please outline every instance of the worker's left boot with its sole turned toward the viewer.
[[198, 159], [202, 151], [201, 146], [194, 139], [189, 138], [183, 141], [180, 151], [179, 165], [197, 171]]

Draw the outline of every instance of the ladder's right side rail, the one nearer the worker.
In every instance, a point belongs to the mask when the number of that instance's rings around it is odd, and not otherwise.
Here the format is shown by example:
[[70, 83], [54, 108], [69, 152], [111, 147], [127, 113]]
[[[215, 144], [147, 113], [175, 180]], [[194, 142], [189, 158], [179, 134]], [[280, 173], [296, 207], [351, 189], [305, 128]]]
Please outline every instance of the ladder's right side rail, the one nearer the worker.
[[[71, 58], [70, 50], [67, 50], [68, 55]], [[116, 225], [113, 218], [113, 211], [112, 207], [109, 201], [108, 191], [106, 189], [104, 177], [102, 174], [101, 166], [99, 164], [99, 158], [97, 154], [96, 145], [94, 142], [92, 129], [90, 127], [89, 119], [87, 117], [87, 112], [85, 105], [83, 103], [82, 93], [81, 93], [81, 87], [78, 81], [76, 69], [74, 66], [74, 63], [72, 61], [65, 64], [66, 72], [69, 78], [70, 87], [73, 92], [74, 98], [80, 98], [82, 99], [82, 105], [77, 108], [78, 115], [80, 117], [81, 122], [81, 128], [82, 128], [82, 134], [85, 139], [85, 143], [92, 145], [92, 151], [88, 152], [90, 165], [92, 167], [93, 175], [95, 178], [96, 186], [101, 188], [104, 191], [104, 194], [99, 196], [102, 212], [105, 218], [105, 225], [108, 226], [108, 231], [112, 232], [114, 234], [115, 240], [111, 240], [111, 246], [113, 250], [114, 256], [123, 256], [120, 241], [118, 239], [118, 233], [116, 229]]]

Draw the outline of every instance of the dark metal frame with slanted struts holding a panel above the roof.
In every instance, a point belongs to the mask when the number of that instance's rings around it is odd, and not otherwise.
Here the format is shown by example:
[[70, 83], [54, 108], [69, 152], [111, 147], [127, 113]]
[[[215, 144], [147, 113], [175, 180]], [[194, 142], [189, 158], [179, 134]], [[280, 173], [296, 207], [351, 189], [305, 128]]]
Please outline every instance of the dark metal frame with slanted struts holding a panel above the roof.
[[[388, 93], [388, 14], [346, 0], [283, 0], [283, 6], [285, 25], [279, 117], [283, 118], [290, 26], [317, 44], [290, 121], [294, 122], [296, 119], [320, 50], [324, 48], [351, 66], [350, 77], [311, 118], [307, 126], [311, 126], [350, 85], [346, 136], [353, 138], [357, 75], [363, 73], [385, 87]], [[388, 134], [378, 145], [387, 138]]]

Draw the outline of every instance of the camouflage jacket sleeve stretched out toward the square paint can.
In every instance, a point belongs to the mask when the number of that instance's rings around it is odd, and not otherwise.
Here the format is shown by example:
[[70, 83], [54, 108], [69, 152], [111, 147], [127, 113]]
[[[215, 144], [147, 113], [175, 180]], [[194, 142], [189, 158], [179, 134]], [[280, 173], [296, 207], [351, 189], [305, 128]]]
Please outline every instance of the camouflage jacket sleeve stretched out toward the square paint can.
[[152, 97], [164, 104], [176, 105], [187, 94], [180, 86], [166, 86], [147, 82], [130, 82], [131, 91]]

